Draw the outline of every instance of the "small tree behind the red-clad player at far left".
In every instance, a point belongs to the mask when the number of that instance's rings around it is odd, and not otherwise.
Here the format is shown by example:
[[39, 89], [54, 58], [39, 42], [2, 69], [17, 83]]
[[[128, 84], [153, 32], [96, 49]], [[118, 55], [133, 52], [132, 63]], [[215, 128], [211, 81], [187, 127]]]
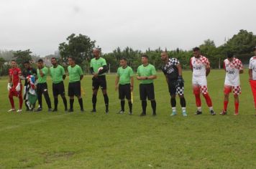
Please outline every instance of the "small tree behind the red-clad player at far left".
[[17, 64], [19, 67], [23, 67], [23, 62], [32, 60], [32, 52], [30, 49], [27, 50], [18, 50], [14, 52], [14, 59], [16, 59]]

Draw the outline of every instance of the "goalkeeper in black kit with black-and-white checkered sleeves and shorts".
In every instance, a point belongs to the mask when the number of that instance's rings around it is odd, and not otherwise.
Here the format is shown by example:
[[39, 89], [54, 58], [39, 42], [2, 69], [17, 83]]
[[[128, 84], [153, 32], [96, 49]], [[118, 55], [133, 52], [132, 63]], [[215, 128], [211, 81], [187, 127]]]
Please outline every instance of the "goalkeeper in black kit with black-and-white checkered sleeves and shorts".
[[180, 105], [182, 108], [183, 116], [187, 116], [186, 113], [186, 100], [184, 97], [184, 80], [182, 77], [182, 69], [178, 59], [169, 58], [167, 52], [161, 53], [161, 59], [163, 61], [162, 71], [165, 74], [166, 82], [170, 92], [170, 105], [172, 106], [172, 114], [176, 115], [176, 95], [180, 97]]

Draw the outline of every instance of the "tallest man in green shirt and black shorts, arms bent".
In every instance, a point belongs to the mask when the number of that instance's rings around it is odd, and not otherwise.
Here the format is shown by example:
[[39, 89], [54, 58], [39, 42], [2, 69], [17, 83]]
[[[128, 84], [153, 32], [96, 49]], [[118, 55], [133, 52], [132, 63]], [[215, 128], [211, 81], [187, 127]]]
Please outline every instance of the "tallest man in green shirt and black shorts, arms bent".
[[96, 102], [97, 102], [97, 93], [99, 90], [99, 87], [101, 87], [103, 96], [104, 96], [104, 102], [106, 106], [106, 114], [109, 113], [109, 97], [106, 93], [106, 71], [108, 70], [106, 66], [106, 60], [100, 56], [100, 49], [93, 49], [93, 56], [94, 58], [91, 59], [91, 74], [93, 74], [93, 110], [91, 112], [96, 112]]

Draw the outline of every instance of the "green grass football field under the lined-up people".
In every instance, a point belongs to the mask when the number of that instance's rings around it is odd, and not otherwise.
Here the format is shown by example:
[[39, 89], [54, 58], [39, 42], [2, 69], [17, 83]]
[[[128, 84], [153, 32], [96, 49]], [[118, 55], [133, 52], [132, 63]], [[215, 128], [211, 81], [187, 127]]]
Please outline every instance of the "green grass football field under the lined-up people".
[[[114, 75], [108, 75], [109, 115], [98, 95], [97, 112], [91, 114], [91, 76], [83, 79], [86, 95], [82, 113], [75, 100], [73, 113], [6, 112], [9, 100], [7, 79], [0, 80], [0, 168], [255, 168], [256, 117], [247, 70], [241, 76], [240, 114], [234, 116], [231, 95], [228, 115], [211, 116], [204, 97], [203, 115], [194, 116], [195, 99], [191, 72], [183, 72], [188, 117], [170, 117], [170, 96], [162, 73], [155, 80], [157, 116], [141, 112], [138, 82], [134, 84], [134, 115], [117, 115], [118, 93]], [[67, 89], [68, 80], [65, 80]], [[214, 110], [222, 110], [224, 71], [212, 70], [208, 77]], [[48, 81], [48, 86], [51, 82]], [[52, 90], [50, 96], [52, 99]], [[18, 100], [15, 99], [18, 105]], [[53, 105], [53, 100], [52, 100]]]

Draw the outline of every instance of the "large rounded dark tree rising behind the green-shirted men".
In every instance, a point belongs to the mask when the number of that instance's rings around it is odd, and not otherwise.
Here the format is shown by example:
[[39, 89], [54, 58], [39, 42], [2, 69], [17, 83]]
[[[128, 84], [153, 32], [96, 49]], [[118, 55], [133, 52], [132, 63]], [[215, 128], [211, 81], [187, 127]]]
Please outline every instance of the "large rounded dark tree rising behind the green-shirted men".
[[83, 66], [84, 61], [89, 61], [92, 58], [92, 50], [95, 47], [96, 41], [91, 41], [86, 35], [71, 34], [67, 38], [67, 43], [63, 42], [59, 46], [60, 62], [68, 64], [68, 57], [76, 59], [76, 63]]

